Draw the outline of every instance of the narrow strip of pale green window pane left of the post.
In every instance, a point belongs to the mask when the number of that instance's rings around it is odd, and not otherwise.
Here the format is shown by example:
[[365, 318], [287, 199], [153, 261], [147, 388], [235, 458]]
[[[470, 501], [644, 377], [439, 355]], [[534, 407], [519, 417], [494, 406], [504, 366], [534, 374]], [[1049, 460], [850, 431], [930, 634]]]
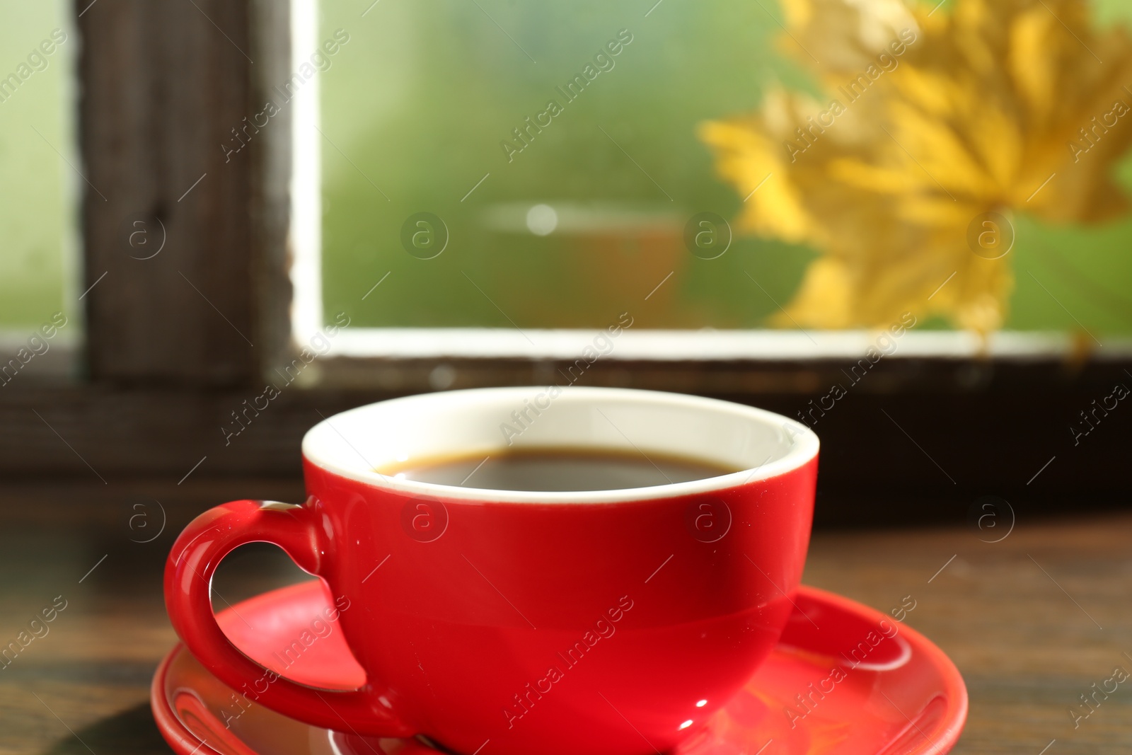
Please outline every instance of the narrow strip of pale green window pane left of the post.
[[[0, 24], [0, 328], [61, 310], [71, 244], [72, 146], [68, 3], [5, 2]], [[66, 158], [63, 157], [66, 155]]]

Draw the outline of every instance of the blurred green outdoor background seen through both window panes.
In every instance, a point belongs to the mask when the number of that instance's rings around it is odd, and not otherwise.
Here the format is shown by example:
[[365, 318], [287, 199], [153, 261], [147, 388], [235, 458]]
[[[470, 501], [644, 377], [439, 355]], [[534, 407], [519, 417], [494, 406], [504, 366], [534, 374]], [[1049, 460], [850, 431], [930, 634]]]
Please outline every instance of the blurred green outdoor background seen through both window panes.
[[[693, 214], [731, 220], [741, 206], [696, 126], [754, 110], [773, 80], [806, 88], [807, 78], [775, 53], [770, 0], [663, 0], [645, 16], [653, 2], [321, 0], [318, 41], [350, 35], [318, 75], [325, 138], [310, 135], [323, 152], [324, 310], [371, 327], [600, 327], [626, 309], [637, 327], [764, 326], [814, 252], [751, 238], [718, 259], [687, 251]], [[69, 6], [0, 7], [6, 76], [66, 28]], [[1096, 8], [1104, 25], [1132, 19], [1126, 0]], [[623, 28], [633, 41], [614, 68], [567, 102], [556, 87]], [[70, 38], [0, 103], [0, 327], [65, 308], [72, 203], [85, 185], [48, 141], [78, 166], [67, 81], [76, 49]], [[312, 52], [298, 50], [295, 66]], [[508, 162], [500, 141], [520, 146], [512, 129], [551, 98], [564, 112]], [[1132, 192], [1132, 158], [1118, 175]], [[557, 216], [547, 235], [528, 223], [535, 205]], [[421, 212], [449, 234], [431, 259], [403, 248], [402, 226]], [[1101, 338], [1132, 334], [1132, 218], [1050, 228], [1021, 216], [1015, 226], [1007, 328], [1077, 329], [1075, 316]]]

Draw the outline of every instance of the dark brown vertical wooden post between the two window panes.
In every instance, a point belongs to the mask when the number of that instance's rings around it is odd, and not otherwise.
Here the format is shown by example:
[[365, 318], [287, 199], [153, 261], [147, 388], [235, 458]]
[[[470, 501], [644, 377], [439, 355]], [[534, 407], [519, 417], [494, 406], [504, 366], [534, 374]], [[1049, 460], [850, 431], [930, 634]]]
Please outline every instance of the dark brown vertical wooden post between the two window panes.
[[[88, 3], [76, 12], [91, 377], [254, 381], [289, 300], [278, 147], [290, 125], [250, 125], [258, 71], [285, 70], [288, 3]], [[271, 6], [282, 9], [257, 25]]]

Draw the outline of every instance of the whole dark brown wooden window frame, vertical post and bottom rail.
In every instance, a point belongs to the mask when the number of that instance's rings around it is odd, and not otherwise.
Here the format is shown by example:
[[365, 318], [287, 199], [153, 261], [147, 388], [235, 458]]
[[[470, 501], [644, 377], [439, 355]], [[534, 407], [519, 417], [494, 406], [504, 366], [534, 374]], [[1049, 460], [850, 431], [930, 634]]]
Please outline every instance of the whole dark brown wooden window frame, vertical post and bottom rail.
[[[301, 357], [290, 320], [291, 113], [250, 132], [239, 153], [221, 145], [290, 75], [288, 3], [77, 0], [75, 14], [82, 166], [105, 197], [86, 190], [82, 199], [83, 288], [93, 288], [82, 302], [80, 377], [29, 375], [0, 391], [9, 429], [0, 473], [293, 477], [299, 439], [320, 415], [440, 387], [546, 385], [573, 363], [327, 355], [248, 414]], [[123, 228], [136, 218], [163, 230], [151, 259], [129, 254]], [[833, 409], [811, 414], [823, 440], [822, 496], [837, 501], [825, 520], [875, 521], [863, 512], [878, 511], [881, 499], [897, 501], [884, 511], [907, 521], [987, 494], [1114, 498], [1132, 452], [1132, 434], [1116, 426], [1132, 421], [1132, 409], [1077, 445], [1069, 427], [1114, 384], [1132, 385], [1132, 360], [1075, 353], [882, 360]], [[843, 384], [855, 362], [614, 358], [584, 381], [796, 417], [813, 412], [811, 402]], [[226, 434], [241, 412], [247, 427]], [[920, 503], [902, 507], [904, 496]]]

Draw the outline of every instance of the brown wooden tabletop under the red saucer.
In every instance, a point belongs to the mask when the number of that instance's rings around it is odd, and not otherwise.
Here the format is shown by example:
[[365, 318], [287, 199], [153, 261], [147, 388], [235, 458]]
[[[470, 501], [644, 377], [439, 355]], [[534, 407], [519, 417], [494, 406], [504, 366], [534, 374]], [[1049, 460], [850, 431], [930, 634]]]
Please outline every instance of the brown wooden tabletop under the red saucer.
[[[192, 516], [243, 497], [299, 500], [302, 490], [297, 480], [204, 477], [0, 488], [0, 640], [67, 600], [50, 633], [0, 670], [0, 753], [169, 752], [147, 702], [175, 641], [163, 559]], [[907, 623], [951, 655], [970, 690], [955, 753], [1038, 755], [1050, 741], [1047, 755], [1126, 752], [1132, 688], [1121, 685], [1077, 728], [1069, 710], [1115, 667], [1132, 670], [1132, 515], [1075, 515], [1067, 501], [1062, 516], [983, 541], [1007, 524], [818, 532], [805, 582], [883, 611], [912, 597]], [[214, 602], [303, 576], [273, 547], [248, 547], [222, 565]]]

